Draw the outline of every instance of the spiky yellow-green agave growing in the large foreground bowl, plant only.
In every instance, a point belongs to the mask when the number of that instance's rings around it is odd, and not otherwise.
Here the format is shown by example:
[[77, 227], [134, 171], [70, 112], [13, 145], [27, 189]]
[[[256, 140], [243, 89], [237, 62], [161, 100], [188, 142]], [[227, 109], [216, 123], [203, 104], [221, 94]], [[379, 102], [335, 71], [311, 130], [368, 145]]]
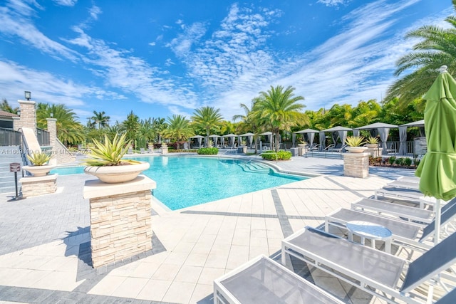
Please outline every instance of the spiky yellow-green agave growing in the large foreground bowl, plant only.
[[139, 164], [132, 159], [123, 159], [122, 157], [127, 153], [130, 147], [131, 140], [125, 140], [125, 134], [119, 137], [118, 133], [115, 134], [111, 142], [107, 135], [105, 135], [105, 142], [101, 143], [93, 139], [94, 147], [91, 148], [89, 157], [85, 159], [85, 164], [89, 166], [118, 166], [122, 164]]

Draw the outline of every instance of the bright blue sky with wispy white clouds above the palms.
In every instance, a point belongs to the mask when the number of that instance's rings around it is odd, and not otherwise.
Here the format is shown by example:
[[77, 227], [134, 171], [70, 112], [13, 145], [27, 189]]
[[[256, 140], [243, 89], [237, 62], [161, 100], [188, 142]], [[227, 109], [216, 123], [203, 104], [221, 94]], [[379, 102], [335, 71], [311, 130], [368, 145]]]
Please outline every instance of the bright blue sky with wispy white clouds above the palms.
[[445, 26], [450, 0], [0, 0], [0, 98], [63, 103], [125, 120], [225, 120], [270, 85], [292, 85], [305, 110], [381, 98], [395, 61]]

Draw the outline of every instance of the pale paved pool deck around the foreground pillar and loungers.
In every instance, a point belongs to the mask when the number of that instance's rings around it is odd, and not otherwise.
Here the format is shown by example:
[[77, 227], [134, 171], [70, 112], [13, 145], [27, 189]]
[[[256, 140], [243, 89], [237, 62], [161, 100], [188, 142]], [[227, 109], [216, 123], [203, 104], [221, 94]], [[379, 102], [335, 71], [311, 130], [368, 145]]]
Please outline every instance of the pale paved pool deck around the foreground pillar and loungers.
[[[338, 159], [293, 157], [276, 165], [323, 175], [176, 211], [152, 202], [152, 253], [99, 271], [88, 265], [89, 209], [82, 197], [93, 177], [59, 176], [56, 194], [20, 201], [1, 194], [0, 302], [212, 303], [215, 278], [261, 253], [277, 256], [294, 231], [414, 174], [371, 167], [366, 179], [343, 177]], [[383, 303], [331, 276], [311, 276], [348, 303]]]

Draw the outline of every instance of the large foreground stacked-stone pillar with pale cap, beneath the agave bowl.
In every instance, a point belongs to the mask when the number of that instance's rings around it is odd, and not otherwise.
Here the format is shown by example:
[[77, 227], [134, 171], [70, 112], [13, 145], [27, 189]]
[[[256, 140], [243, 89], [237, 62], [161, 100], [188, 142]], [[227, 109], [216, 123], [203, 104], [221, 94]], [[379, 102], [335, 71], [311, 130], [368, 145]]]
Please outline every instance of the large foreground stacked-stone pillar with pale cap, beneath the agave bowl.
[[106, 184], [88, 180], [90, 246], [94, 268], [138, 256], [152, 249], [151, 190], [157, 184], [140, 175], [132, 182]]

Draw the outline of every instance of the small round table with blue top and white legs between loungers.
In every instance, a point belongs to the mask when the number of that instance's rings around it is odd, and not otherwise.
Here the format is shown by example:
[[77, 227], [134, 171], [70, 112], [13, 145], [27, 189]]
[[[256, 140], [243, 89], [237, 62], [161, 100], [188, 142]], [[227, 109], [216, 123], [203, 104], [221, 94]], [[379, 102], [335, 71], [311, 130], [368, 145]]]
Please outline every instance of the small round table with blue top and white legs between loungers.
[[353, 234], [361, 237], [361, 244], [364, 245], [365, 239], [371, 239], [371, 246], [375, 248], [375, 241], [385, 242], [385, 252], [391, 253], [391, 236], [390, 229], [371, 223], [369, 221], [348, 221], [348, 240], [353, 241]]

